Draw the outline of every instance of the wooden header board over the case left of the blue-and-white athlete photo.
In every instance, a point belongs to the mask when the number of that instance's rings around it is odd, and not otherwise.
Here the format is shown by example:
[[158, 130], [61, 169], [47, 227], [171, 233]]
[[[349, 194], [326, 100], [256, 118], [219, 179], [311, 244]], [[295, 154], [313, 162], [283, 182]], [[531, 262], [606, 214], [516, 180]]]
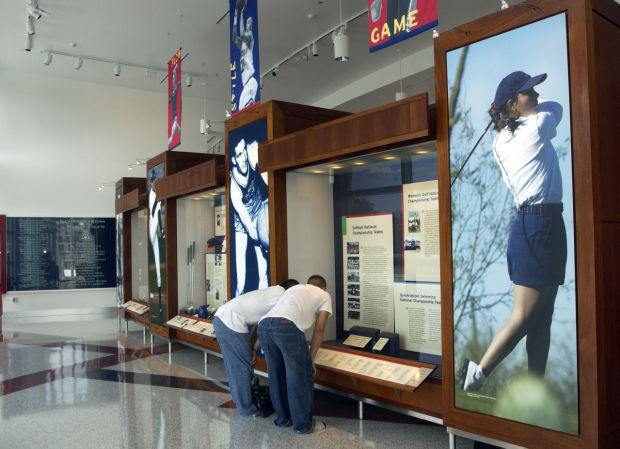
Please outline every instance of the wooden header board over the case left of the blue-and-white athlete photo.
[[187, 168], [155, 181], [157, 199], [164, 200], [188, 195], [201, 190], [224, 185], [225, 173], [223, 156]]

